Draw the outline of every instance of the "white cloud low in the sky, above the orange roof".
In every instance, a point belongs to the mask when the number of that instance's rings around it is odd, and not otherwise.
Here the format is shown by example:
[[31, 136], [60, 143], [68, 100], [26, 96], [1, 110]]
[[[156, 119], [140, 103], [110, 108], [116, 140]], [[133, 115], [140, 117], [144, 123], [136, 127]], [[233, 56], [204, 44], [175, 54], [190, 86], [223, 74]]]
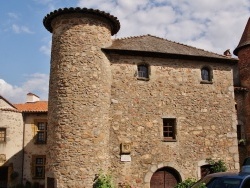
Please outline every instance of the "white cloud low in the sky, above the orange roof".
[[11, 103], [24, 103], [29, 92], [38, 95], [41, 100], [48, 100], [49, 76], [35, 73], [27, 76], [27, 79], [21, 86], [13, 86], [0, 79], [0, 95]]

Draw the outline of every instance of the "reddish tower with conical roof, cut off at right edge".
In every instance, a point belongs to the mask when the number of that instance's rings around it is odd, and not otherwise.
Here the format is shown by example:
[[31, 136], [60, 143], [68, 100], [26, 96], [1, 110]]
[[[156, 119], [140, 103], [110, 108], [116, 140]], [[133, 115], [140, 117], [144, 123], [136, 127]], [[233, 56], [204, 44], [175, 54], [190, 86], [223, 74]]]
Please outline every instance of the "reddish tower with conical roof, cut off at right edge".
[[238, 56], [238, 70], [240, 84], [246, 88], [248, 92], [244, 95], [244, 127], [247, 140], [247, 156], [250, 155], [250, 18], [246, 24], [241, 40], [234, 50], [234, 54]]

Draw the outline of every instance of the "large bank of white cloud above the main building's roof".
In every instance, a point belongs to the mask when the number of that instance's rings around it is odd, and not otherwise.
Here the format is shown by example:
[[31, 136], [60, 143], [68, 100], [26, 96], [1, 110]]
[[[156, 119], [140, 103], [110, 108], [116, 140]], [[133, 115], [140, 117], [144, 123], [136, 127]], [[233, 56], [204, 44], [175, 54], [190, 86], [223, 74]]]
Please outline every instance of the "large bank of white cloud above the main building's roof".
[[250, 15], [249, 0], [79, 0], [118, 17], [117, 37], [152, 34], [205, 50], [234, 50]]

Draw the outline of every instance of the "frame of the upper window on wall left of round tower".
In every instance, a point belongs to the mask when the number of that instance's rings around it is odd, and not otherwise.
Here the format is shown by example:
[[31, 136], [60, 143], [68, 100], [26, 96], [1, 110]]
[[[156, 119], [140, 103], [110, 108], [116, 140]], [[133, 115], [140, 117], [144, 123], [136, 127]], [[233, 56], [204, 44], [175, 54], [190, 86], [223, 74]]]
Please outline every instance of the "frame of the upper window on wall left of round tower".
[[[44, 123], [44, 129], [39, 128], [39, 124]], [[47, 120], [36, 120], [35, 121], [36, 131], [35, 131], [35, 144], [47, 144], [47, 128], [48, 122]], [[43, 135], [44, 139], [40, 140], [41, 136]]]

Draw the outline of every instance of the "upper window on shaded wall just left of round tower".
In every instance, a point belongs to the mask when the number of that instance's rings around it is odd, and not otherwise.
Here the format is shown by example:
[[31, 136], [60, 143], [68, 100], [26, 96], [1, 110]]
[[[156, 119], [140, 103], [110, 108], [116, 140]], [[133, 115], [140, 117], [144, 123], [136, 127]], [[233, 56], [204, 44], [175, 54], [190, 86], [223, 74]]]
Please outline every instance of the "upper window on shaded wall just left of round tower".
[[37, 121], [36, 123], [36, 143], [46, 144], [47, 141], [47, 122]]

